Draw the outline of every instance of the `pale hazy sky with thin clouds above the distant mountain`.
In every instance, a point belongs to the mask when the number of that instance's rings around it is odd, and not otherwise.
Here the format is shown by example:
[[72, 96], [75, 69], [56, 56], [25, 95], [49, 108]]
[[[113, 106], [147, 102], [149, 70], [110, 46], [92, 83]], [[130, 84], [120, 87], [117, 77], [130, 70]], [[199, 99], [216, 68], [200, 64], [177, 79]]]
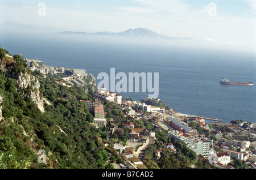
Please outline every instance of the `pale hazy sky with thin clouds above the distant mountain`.
[[256, 42], [255, 0], [0, 0], [0, 6], [1, 23], [84, 32], [147, 28], [171, 37]]

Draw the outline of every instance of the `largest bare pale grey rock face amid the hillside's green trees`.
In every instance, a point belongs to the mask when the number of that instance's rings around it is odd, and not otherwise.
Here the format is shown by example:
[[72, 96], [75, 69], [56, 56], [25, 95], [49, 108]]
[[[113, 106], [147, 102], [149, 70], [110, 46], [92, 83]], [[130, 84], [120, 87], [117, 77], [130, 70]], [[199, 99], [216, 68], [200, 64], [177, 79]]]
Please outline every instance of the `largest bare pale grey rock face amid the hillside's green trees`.
[[22, 96], [29, 96], [31, 100], [38, 106], [40, 111], [44, 112], [44, 100], [43, 95], [40, 95], [40, 83], [39, 80], [28, 73], [27, 71], [20, 72], [19, 74], [12, 74], [13, 78], [16, 79], [18, 85], [18, 91]]

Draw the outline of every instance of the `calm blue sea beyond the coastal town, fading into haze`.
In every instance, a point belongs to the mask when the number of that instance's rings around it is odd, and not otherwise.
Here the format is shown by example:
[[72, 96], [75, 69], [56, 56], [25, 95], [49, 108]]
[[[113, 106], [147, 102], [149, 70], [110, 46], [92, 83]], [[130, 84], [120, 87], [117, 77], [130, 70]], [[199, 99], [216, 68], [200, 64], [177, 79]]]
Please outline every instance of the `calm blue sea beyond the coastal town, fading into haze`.
[[[159, 72], [159, 97], [170, 108], [185, 114], [242, 119], [256, 123], [256, 87], [220, 85], [232, 81], [256, 83], [256, 60], [248, 54], [174, 46], [127, 45], [59, 36], [2, 36], [0, 44], [11, 54], [40, 59], [44, 65], [85, 68], [100, 72]], [[118, 81], [118, 80], [117, 80]], [[98, 83], [97, 80], [96, 83]], [[203, 95], [198, 96], [199, 93]], [[121, 93], [141, 100], [148, 93]]]

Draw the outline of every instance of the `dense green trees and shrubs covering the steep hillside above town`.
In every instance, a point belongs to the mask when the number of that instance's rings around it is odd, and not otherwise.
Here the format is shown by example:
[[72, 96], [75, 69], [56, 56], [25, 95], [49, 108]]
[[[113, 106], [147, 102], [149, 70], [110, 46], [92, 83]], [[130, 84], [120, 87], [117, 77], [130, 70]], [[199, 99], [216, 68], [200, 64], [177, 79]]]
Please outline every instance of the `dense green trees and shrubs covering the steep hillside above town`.
[[[2, 51], [3, 60], [5, 52]], [[30, 73], [19, 55], [14, 55], [14, 59], [15, 62], [9, 65], [11, 72]], [[37, 78], [40, 91], [48, 100], [44, 104], [44, 113], [30, 97], [17, 91], [15, 79], [0, 70], [0, 95], [3, 98], [0, 168], [112, 168], [105, 164], [108, 152], [98, 140], [100, 130], [89, 125], [93, 115], [84, 102], [79, 101], [92, 100], [92, 85], [68, 88], [57, 85], [51, 76], [37, 75]], [[66, 96], [72, 99], [66, 100]], [[46, 164], [38, 162], [40, 149], [46, 152]]]

